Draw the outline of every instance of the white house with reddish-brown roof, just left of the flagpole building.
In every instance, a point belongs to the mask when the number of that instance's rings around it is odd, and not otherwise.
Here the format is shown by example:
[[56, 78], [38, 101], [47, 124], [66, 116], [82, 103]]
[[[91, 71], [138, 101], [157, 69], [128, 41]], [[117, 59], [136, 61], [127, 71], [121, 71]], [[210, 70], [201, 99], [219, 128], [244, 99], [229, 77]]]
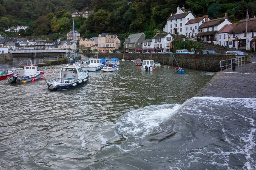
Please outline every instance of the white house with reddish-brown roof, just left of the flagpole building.
[[236, 26], [236, 24], [237, 23], [225, 25], [223, 28], [220, 29], [220, 31], [218, 31], [218, 45], [223, 45], [225, 48], [232, 48], [232, 41], [228, 40], [228, 38], [230, 37], [228, 35], [228, 32], [232, 30]]

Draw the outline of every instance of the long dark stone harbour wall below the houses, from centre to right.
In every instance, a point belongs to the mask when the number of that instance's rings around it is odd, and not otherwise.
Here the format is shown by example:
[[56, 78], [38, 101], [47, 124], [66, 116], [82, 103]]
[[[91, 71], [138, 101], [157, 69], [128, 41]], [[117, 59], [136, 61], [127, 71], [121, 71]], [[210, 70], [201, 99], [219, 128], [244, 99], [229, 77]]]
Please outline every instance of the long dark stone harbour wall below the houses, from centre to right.
[[[95, 57], [95, 54], [85, 54], [85, 57]], [[225, 54], [98, 54], [98, 58], [106, 57], [119, 60], [153, 59], [154, 62], [159, 62], [162, 65], [174, 67], [179, 65], [182, 68], [212, 72], [221, 71], [221, 60], [236, 58], [236, 56]], [[245, 62], [249, 62], [249, 57], [245, 58]]]

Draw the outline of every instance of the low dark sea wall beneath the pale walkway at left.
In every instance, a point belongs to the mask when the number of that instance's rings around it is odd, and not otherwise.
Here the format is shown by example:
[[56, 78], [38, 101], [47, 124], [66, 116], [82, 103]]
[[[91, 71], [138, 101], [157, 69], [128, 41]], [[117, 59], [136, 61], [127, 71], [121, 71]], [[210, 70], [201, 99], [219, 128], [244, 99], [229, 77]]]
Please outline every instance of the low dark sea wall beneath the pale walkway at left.
[[44, 58], [44, 57], [56, 57], [58, 55], [63, 55], [63, 54], [66, 54], [66, 53], [12, 53], [13, 57], [15, 58], [31, 58], [31, 59], [34, 59], [36, 57], [36, 59], [38, 58]]

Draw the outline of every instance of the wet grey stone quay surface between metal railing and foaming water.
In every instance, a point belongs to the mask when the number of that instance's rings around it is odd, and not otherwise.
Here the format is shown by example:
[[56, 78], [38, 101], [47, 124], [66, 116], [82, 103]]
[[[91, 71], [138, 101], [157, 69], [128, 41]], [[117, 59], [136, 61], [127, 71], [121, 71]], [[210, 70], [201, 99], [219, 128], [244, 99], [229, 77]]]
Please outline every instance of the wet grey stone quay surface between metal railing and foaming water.
[[256, 57], [250, 63], [220, 71], [201, 89], [198, 96], [256, 98]]

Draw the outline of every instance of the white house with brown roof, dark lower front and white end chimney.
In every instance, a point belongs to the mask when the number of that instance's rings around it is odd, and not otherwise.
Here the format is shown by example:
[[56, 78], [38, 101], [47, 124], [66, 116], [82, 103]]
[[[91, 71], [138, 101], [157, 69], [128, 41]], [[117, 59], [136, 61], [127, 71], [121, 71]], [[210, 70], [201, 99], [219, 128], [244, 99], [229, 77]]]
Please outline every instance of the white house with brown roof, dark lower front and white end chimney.
[[225, 25], [229, 24], [232, 24], [232, 22], [227, 19], [227, 14], [222, 18], [205, 21], [201, 26], [199, 26], [199, 33], [196, 37], [199, 41], [218, 44], [218, 31], [220, 31]]

